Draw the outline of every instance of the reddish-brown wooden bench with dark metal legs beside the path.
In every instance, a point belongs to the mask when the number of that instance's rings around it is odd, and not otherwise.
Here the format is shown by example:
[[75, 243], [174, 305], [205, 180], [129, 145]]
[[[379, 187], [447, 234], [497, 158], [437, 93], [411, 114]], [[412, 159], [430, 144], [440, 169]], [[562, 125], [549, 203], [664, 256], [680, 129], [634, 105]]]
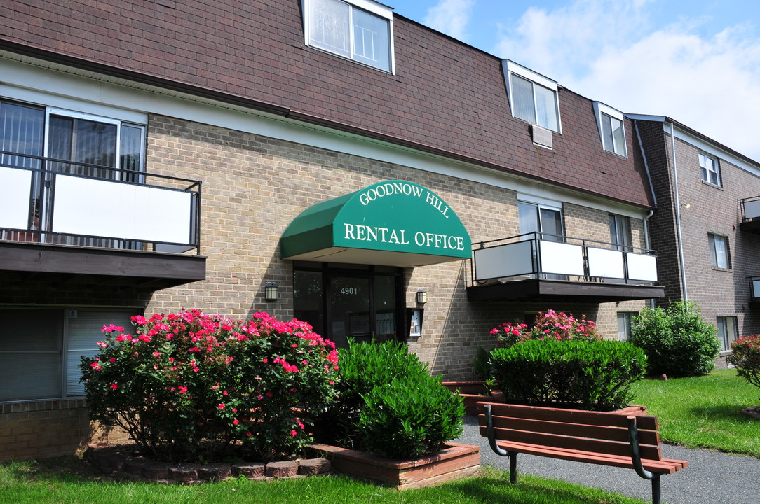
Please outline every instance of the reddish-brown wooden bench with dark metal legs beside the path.
[[689, 466], [662, 458], [657, 417], [489, 402], [479, 402], [478, 411], [480, 435], [509, 457], [511, 483], [517, 480], [517, 454], [527, 453], [632, 468], [652, 481], [652, 504], [660, 504], [660, 476]]

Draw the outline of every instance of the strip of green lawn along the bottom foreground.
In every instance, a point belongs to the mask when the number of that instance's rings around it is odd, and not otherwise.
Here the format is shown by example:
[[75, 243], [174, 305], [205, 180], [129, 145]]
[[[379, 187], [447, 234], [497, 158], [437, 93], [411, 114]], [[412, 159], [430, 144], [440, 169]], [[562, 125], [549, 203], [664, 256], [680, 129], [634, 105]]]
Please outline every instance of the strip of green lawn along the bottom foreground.
[[[71, 458], [0, 465], [2, 502], [14, 504], [644, 504], [644, 501], [521, 474], [486, 469], [477, 477], [436, 487], [399, 492], [347, 477], [320, 476], [297, 480], [228, 480], [195, 486], [99, 480], [94, 474], [62, 475], [62, 468], [84, 462]], [[86, 471], [86, 469], [84, 470]]]

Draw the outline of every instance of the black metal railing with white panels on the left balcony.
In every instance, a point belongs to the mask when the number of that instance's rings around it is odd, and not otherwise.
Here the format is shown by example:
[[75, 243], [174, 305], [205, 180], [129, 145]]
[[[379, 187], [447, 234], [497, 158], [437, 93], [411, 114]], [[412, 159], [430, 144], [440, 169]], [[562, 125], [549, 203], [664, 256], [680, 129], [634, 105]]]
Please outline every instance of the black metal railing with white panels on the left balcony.
[[0, 240], [200, 254], [200, 181], [0, 151], [0, 187]]

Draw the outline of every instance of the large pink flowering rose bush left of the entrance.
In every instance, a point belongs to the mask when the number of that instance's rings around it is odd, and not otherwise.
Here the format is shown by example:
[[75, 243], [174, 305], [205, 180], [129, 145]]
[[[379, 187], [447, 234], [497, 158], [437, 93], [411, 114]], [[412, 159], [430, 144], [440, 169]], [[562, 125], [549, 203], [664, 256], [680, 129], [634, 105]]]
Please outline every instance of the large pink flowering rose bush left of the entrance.
[[170, 461], [290, 458], [334, 400], [338, 354], [307, 323], [199, 310], [106, 326], [81, 370], [90, 416]]

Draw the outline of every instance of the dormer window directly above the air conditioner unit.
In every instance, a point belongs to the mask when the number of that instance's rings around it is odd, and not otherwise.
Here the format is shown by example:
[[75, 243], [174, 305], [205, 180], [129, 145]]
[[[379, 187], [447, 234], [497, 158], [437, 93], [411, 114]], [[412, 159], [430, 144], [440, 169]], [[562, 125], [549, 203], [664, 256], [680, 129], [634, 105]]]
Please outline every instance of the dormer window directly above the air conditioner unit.
[[557, 83], [513, 61], [504, 61], [504, 77], [512, 115], [547, 130], [562, 133]]

